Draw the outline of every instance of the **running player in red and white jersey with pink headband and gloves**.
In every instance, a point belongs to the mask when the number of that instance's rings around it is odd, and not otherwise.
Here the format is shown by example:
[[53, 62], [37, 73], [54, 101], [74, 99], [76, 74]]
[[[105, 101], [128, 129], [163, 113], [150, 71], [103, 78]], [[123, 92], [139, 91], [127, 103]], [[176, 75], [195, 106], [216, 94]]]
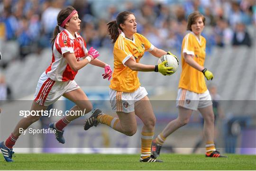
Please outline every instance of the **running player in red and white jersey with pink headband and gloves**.
[[[76, 104], [70, 111], [88, 113], [92, 110], [92, 105], [74, 81], [77, 71], [91, 63], [104, 68], [105, 73], [102, 76], [110, 80], [112, 70], [108, 64], [96, 59], [99, 56], [98, 51], [93, 47], [89, 51], [86, 49], [85, 41], [77, 33], [80, 30], [81, 20], [73, 7], [62, 9], [58, 14], [57, 23], [52, 39], [52, 63], [39, 78], [31, 111], [45, 111], [47, 106], [64, 96]], [[20, 128], [27, 129], [40, 117], [30, 115], [21, 119], [9, 138], [0, 143], [1, 152], [7, 162], [12, 162], [11, 158], [14, 153], [12, 147], [20, 135]], [[78, 117], [80, 116], [66, 115], [61, 120], [50, 123], [49, 127], [56, 131], [55, 136], [60, 143], [65, 143], [64, 127]]]

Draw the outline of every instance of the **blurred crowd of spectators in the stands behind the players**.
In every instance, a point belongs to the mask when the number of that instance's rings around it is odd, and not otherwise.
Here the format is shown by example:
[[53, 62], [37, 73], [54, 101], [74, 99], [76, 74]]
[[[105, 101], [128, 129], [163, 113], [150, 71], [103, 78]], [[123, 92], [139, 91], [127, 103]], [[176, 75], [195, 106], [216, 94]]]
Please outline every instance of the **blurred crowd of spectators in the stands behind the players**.
[[80, 34], [87, 46], [95, 48], [112, 47], [106, 24], [124, 10], [135, 14], [138, 33], [166, 51], [180, 51], [186, 19], [194, 10], [206, 17], [203, 36], [208, 53], [215, 45], [251, 46], [247, 27], [256, 26], [255, 0], [1, 0], [0, 39], [18, 42], [19, 59], [31, 52], [40, 53], [50, 47], [58, 12], [68, 5], [78, 11]]

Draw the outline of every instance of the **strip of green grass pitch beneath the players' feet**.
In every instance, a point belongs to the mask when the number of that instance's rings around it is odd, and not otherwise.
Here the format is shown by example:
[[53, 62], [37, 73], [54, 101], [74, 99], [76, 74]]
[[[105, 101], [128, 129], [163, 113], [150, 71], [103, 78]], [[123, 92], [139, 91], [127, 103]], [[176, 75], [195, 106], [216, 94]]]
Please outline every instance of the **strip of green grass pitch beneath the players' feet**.
[[256, 170], [256, 155], [161, 154], [163, 163], [139, 162], [139, 154], [17, 154], [14, 162], [1, 155], [0, 170]]

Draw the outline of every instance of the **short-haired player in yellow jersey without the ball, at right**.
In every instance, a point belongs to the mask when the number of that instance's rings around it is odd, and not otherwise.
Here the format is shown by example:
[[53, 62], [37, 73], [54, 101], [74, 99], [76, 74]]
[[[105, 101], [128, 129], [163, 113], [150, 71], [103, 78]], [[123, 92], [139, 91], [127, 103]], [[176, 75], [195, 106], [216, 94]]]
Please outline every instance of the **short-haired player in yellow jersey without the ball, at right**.
[[204, 28], [205, 17], [198, 11], [188, 17], [187, 30], [182, 42], [182, 73], [176, 105], [179, 116], [172, 120], [152, 143], [152, 152], [160, 154], [161, 146], [166, 137], [176, 129], [186, 125], [192, 111], [199, 110], [204, 118], [204, 138], [206, 140], [206, 157], [225, 157], [220, 155], [214, 145], [214, 113], [210, 93], [206, 87], [204, 76], [207, 80], [213, 79], [213, 74], [204, 68], [206, 40], [201, 36]]

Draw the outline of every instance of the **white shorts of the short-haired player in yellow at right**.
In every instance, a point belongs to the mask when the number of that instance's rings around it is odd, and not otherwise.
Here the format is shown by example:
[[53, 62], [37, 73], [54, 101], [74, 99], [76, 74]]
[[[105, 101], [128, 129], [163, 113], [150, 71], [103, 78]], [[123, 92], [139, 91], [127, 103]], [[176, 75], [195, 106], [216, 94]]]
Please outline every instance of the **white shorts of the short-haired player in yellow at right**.
[[197, 109], [204, 108], [212, 105], [209, 91], [198, 94], [189, 90], [179, 88], [176, 99], [176, 107], [181, 106], [186, 109], [196, 111]]

